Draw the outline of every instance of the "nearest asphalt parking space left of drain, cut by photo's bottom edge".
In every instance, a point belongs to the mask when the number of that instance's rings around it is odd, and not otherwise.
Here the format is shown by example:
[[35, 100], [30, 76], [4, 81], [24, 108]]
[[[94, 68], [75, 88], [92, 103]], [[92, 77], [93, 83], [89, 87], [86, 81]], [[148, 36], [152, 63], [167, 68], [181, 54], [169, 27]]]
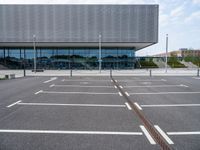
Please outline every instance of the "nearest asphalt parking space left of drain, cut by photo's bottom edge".
[[[159, 150], [146, 143], [142, 135], [77, 135], [77, 134], [18, 134], [1, 133], [1, 149], [116, 149]], [[78, 142], [78, 144], [77, 144]], [[123, 144], [122, 144], [123, 143]]]

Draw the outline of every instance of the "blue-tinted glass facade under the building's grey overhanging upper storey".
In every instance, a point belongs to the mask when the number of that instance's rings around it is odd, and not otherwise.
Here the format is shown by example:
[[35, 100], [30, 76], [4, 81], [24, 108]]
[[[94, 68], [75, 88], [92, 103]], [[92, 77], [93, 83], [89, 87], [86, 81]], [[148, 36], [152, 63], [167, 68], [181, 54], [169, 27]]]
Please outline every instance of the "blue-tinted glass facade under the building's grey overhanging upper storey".
[[[102, 48], [102, 69], [135, 68], [135, 50]], [[38, 69], [98, 69], [98, 48], [37, 48]], [[30, 48], [0, 48], [0, 64], [10, 69], [33, 69], [34, 50]]]

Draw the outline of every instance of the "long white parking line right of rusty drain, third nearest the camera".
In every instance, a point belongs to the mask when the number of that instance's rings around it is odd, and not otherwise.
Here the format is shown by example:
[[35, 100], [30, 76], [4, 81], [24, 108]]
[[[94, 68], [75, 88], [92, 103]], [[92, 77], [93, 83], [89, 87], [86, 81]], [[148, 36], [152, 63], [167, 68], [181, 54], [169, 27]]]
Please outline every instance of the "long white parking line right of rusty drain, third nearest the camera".
[[165, 94], [200, 94], [200, 92], [155, 92], [155, 93], [129, 93], [130, 95], [165, 95]]

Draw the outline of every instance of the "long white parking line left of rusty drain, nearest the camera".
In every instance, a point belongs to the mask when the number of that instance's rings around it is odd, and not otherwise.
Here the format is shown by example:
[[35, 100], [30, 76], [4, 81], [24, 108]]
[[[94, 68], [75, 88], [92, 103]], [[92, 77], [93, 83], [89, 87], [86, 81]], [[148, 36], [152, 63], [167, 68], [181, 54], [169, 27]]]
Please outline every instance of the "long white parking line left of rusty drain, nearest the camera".
[[6, 129], [0, 129], [0, 133], [142, 135], [142, 132], [62, 131], [62, 130], [6, 130]]

